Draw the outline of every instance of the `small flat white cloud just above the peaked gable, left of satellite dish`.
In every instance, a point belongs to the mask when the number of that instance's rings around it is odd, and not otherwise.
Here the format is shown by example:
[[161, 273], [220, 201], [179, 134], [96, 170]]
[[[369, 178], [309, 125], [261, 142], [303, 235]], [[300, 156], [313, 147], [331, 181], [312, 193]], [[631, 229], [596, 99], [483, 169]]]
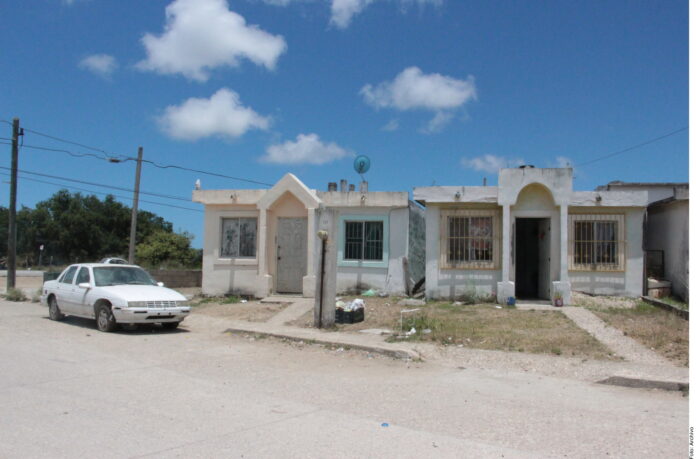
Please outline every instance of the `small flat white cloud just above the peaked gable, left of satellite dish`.
[[324, 143], [316, 134], [299, 134], [297, 140], [271, 145], [261, 161], [273, 164], [326, 164], [353, 153], [333, 142]]

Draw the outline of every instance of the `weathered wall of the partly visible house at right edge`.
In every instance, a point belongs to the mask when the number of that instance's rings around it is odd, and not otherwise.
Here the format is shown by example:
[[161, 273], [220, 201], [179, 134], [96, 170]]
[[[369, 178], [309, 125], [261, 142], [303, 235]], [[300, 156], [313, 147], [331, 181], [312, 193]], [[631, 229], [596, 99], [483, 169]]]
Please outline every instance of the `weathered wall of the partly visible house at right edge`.
[[664, 251], [665, 278], [672, 292], [684, 300], [689, 295], [689, 201], [680, 200], [648, 208], [648, 250]]

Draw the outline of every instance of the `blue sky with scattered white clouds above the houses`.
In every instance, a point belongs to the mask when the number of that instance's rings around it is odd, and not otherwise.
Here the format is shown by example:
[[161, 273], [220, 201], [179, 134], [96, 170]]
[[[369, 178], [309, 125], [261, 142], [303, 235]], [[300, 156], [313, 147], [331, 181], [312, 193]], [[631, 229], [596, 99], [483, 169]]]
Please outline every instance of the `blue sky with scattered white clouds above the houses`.
[[[357, 154], [372, 160], [372, 190], [495, 184], [501, 165], [581, 165], [688, 125], [686, 1], [32, 0], [0, 6], [0, 43], [0, 119], [113, 155], [142, 145], [160, 164], [270, 183], [292, 172], [318, 189], [357, 183]], [[29, 131], [24, 143], [95, 153]], [[31, 148], [20, 169], [126, 188], [134, 175], [132, 162]], [[577, 190], [688, 181], [688, 134], [575, 175]], [[189, 198], [196, 179], [258, 187], [146, 164], [141, 188]], [[19, 202], [57, 189], [20, 179]], [[201, 246], [201, 213], [141, 208]]]

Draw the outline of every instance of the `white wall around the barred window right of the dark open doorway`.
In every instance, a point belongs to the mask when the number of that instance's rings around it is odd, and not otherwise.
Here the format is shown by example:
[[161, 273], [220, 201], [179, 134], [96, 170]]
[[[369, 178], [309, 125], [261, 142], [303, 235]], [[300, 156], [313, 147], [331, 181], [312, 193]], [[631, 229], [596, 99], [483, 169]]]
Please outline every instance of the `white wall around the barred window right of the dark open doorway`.
[[[622, 213], [625, 218], [626, 262], [624, 271], [569, 271], [572, 289], [598, 295], [637, 297], [643, 294], [643, 208], [574, 207], [571, 213]], [[571, 229], [572, 230], [572, 229]]]

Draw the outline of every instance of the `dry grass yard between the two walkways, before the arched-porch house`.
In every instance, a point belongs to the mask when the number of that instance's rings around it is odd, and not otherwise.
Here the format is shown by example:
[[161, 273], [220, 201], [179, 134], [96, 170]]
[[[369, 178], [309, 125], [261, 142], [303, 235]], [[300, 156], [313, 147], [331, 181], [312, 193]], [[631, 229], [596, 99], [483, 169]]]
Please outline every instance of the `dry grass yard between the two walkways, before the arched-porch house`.
[[[352, 298], [344, 298], [344, 301], [349, 299]], [[366, 298], [365, 321], [337, 325], [337, 329], [384, 328], [399, 333], [400, 311], [413, 308], [397, 305], [398, 300]], [[294, 323], [299, 326], [311, 324], [310, 314]], [[559, 311], [498, 309], [493, 304], [454, 306], [449, 302], [433, 302], [420, 307], [420, 311], [404, 315], [402, 331], [411, 328], [416, 333], [407, 340], [476, 349], [613, 358], [609, 349]]]

